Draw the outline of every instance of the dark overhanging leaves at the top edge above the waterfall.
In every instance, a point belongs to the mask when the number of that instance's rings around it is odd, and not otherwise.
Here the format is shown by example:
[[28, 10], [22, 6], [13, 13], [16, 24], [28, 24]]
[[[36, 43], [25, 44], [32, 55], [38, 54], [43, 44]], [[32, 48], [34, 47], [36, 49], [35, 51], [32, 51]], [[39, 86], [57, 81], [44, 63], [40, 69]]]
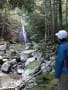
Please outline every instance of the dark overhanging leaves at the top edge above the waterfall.
[[33, 11], [34, 0], [8, 0], [12, 9], [19, 7], [27, 10], [29, 13]]

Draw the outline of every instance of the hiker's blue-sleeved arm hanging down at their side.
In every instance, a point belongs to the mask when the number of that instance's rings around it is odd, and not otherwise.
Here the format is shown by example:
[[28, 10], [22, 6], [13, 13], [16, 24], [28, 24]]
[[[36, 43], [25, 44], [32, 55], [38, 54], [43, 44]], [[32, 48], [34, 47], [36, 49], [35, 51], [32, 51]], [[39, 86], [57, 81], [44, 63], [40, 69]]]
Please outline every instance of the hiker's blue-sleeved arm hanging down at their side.
[[61, 75], [61, 70], [63, 67], [64, 63], [64, 46], [61, 45], [58, 49], [58, 55], [57, 55], [57, 60], [56, 60], [56, 65], [55, 65], [55, 78], [59, 78]]

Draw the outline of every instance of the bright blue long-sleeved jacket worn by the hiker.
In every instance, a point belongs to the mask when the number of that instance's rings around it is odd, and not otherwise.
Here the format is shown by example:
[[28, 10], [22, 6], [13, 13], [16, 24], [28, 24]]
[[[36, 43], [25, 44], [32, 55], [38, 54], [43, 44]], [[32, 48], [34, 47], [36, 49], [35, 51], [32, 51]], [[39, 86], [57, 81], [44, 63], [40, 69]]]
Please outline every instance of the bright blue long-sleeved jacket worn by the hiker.
[[61, 74], [68, 74], [68, 42], [61, 42], [58, 47], [55, 78], [59, 78]]

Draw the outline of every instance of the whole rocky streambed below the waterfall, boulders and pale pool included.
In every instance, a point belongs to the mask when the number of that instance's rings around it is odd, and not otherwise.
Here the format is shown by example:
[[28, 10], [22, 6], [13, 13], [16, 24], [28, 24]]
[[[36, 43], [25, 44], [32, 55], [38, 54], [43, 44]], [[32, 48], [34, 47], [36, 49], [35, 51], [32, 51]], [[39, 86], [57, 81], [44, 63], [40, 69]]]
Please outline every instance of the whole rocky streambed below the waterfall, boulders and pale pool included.
[[0, 89], [24, 90], [37, 85], [35, 77], [50, 72], [55, 63], [55, 53], [49, 47], [44, 56], [36, 43], [28, 50], [19, 43], [0, 44]]

